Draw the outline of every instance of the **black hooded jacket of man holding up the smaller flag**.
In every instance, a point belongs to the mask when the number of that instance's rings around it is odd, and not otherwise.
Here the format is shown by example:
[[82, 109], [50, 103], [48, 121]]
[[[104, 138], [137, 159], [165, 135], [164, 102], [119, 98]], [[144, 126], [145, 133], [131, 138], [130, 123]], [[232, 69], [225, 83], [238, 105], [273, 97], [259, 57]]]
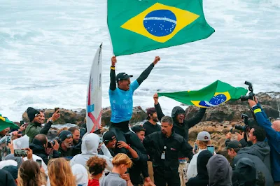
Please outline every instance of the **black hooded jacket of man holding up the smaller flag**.
[[[155, 105], [155, 110], [157, 110], [158, 114], [158, 120], [162, 120], [162, 117], [165, 115], [162, 113], [162, 108], [160, 107], [160, 103], [158, 105]], [[204, 116], [204, 113], [206, 111], [206, 108], [200, 108], [198, 112], [191, 117], [190, 119], [185, 119], [182, 124], [180, 124], [176, 117], [179, 115], [179, 113], [186, 113], [183, 108], [180, 106], [175, 106], [172, 109], [172, 119], [173, 119], [173, 129], [176, 132], [176, 134], [179, 134], [180, 136], [183, 136], [186, 141], [188, 141], [188, 129], [195, 126], [195, 124], [199, 123], [202, 120], [202, 117]]]

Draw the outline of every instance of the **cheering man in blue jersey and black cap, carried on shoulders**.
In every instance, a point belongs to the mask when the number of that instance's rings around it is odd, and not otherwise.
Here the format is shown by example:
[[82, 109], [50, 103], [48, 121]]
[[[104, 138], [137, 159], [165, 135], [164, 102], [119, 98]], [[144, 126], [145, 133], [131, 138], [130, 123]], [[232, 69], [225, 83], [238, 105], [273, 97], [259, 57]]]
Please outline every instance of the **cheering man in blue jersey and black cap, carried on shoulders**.
[[[128, 127], [130, 119], [132, 118], [132, 96], [139, 85], [141, 85], [141, 83], [146, 78], [148, 78], [148, 75], [153, 70], [153, 67], [159, 61], [160, 57], [155, 57], [153, 63], [150, 64], [150, 66], [148, 66], [148, 68], [141, 73], [137, 80], [134, 80], [131, 83], [130, 78], [133, 77], [132, 75], [127, 75], [127, 73], [118, 73], [118, 75], [116, 76], [115, 65], [117, 59], [116, 57], [112, 57], [111, 59], [111, 83], [109, 89], [109, 97], [112, 113], [110, 130], [116, 134], [117, 141], [125, 141], [139, 150], [144, 150], [144, 145], [141, 143], [137, 135], [130, 131]], [[126, 152], [126, 150], [123, 148], [117, 151], [123, 153]]]

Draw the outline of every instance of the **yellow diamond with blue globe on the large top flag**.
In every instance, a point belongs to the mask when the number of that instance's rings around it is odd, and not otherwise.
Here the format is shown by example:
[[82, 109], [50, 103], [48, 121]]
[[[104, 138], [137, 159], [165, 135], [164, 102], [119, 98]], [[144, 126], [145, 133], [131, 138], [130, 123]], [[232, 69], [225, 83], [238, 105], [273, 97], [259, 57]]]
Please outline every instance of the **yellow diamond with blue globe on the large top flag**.
[[162, 3], [155, 3], [121, 27], [154, 41], [165, 43], [200, 15]]

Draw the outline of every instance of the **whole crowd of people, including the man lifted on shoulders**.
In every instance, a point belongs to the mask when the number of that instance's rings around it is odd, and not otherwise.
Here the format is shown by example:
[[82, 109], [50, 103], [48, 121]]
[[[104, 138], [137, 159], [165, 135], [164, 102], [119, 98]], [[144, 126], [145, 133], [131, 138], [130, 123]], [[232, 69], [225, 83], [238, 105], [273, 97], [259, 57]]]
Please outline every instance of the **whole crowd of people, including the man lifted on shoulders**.
[[[48, 139], [59, 110], [45, 121], [43, 111], [27, 108], [27, 127], [22, 124], [19, 129], [0, 131], [0, 185], [280, 185], [280, 120], [271, 123], [257, 98], [248, 100], [257, 124], [237, 134], [238, 140], [232, 140], [231, 132], [226, 135], [227, 157], [210, 150], [213, 145], [207, 131], [197, 134], [195, 148], [188, 143], [188, 130], [202, 120], [206, 108], [190, 119], [179, 106], [165, 116], [155, 94], [147, 121], [130, 127], [134, 91], [159, 61], [155, 57], [131, 83], [132, 75], [116, 76], [117, 60], [112, 57], [111, 122], [109, 130], [101, 127], [101, 134], [66, 127]], [[0, 120], [8, 122], [8, 118]], [[25, 136], [28, 148], [15, 149], [13, 141], [24, 141]]]

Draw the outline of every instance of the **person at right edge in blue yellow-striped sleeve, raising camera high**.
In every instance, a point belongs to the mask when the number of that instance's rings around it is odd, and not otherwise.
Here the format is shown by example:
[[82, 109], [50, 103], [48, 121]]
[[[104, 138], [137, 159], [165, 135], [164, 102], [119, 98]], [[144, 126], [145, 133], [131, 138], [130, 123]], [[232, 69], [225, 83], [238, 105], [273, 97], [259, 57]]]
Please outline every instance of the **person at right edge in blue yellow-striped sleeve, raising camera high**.
[[280, 185], [280, 121], [269, 122], [267, 115], [258, 103], [258, 99], [256, 97], [254, 99], [254, 101], [249, 99], [248, 103], [253, 109], [258, 124], [267, 133], [268, 144], [271, 148], [272, 177], [274, 178], [274, 184]]

